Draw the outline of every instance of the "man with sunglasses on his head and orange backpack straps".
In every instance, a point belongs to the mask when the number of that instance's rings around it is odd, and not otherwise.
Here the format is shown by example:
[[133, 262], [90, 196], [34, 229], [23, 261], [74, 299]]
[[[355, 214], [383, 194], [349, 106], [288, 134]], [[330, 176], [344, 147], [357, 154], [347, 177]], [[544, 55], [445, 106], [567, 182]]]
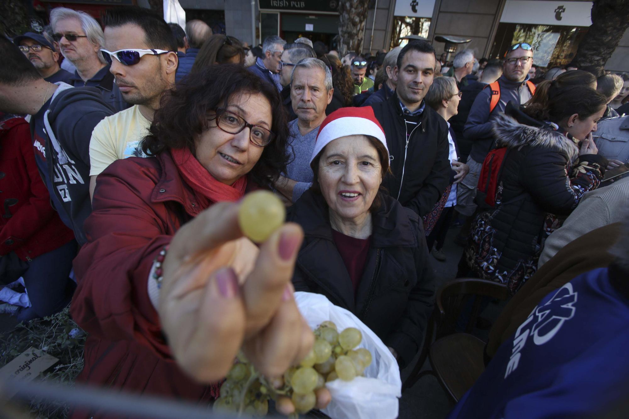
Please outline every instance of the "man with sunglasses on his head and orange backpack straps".
[[465, 179], [459, 184], [457, 191], [457, 205], [455, 209], [467, 220], [459, 236], [455, 239], [457, 243], [464, 243], [467, 239], [469, 226], [472, 223], [472, 215], [476, 211], [476, 188], [481, 176], [482, 162], [487, 153], [494, 147], [494, 134], [492, 123], [494, 118], [504, 112], [509, 101], [517, 104], [524, 104], [533, 96], [535, 86], [529, 86], [528, 71], [533, 65], [533, 47], [528, 43], [516, 43], [509, 47], [504, 56], [503, 75], [498, 79], [498, 103], [493, 106], [492, 99], [496, 99], [496, 89], [493, 84], [487, 85], [474, 99], [474, 104], [470, 108], [467, 122], [465, 123], [463, 135], [466, 140], [472, 142], [472, 149], [465, 162], [469, 165], [470, 171]]

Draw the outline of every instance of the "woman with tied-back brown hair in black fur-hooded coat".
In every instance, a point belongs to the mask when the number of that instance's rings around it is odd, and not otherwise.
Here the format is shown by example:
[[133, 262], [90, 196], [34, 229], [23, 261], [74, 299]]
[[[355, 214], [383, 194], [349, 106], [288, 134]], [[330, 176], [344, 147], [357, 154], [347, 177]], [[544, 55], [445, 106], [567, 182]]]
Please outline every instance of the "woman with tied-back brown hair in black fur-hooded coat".
[[606, 98], [574, 83], [581, 73], [541, 83], [526, 106], [508, 103], [494, 121], [497, 147], [506, 148], [496, 206], [476, 217], [465, 259], [476, 276], [507, 284], [512, 294], [537, 270], [545, 238], [603, 178], [607, 162], [592, 131]]

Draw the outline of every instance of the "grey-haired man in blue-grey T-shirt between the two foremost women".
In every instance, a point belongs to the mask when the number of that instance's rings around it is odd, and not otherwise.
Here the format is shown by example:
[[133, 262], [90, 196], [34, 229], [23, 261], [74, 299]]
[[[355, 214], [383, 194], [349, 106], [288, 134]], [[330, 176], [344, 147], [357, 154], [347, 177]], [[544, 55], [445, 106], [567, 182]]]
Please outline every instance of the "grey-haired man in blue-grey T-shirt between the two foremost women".
[[287, 145], [292, 159], [286, 165], [285, 176], [280, 176], [275, 184], [286, 203], [297, 201], [312, 185], [310, 157], [333, 94], [332, 73], [323, 61], [306, 58], [295, 65], [291, 75], [291, 99], [297, 119], [288, 125], [291, 136]]

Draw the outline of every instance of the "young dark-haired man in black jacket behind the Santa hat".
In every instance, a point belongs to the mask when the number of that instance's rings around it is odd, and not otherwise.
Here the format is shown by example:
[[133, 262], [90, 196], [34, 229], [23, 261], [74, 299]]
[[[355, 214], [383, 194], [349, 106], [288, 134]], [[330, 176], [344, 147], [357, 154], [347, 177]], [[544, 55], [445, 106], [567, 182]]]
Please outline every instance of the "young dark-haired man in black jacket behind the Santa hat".
[[426, 41], [409, 42], [393, 71], [396, 92], [372, 106], [384, 128], [393, 176], [384, 186], [393, 198], [425, 216], [450, 179], [448, 125], [423, 99], [435, 75], [435, 49]]

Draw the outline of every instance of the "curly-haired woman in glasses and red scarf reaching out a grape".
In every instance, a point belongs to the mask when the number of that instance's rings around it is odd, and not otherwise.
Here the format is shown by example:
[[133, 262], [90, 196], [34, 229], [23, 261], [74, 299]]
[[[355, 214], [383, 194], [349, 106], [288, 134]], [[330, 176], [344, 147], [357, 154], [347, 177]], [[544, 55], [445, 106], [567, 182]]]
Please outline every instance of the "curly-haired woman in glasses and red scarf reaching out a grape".
[[[283, 109], [242, 66], [203, 69], [164, 98], [143, 142], [152, 157], [99, 175], [74, 265], [72, 316], [89, 333], [77, 381], [203, 401], [241, 347], [269, 377], [308, 354], [290, 284], [301, 228], [258, 248], [233, 203], [285, 170]], [[101, 413], [74, 412], [86, 416]]]

